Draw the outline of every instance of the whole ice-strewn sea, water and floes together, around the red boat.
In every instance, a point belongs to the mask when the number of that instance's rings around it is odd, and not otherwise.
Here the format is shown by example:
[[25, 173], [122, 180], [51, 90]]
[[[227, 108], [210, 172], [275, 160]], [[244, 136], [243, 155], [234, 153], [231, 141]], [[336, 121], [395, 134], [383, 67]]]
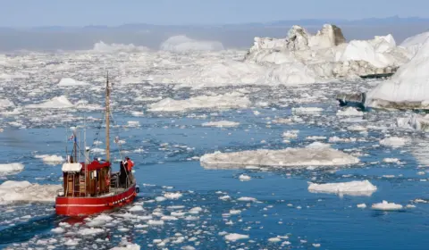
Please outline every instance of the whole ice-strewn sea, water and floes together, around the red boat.
[[[179, 40], [156, 52], [103, 43], [0, 56], [0, 248], [427, 249], [423, 123], [335, 100], [389, 80], [306, 82], [308, 69], [273, 79], [271, 66], [243, 63], [246, 52]], [[196, 43], [202, 51], [183, 51]], [[107, 70], [114, 170], [130, 156], [139, 196], [114, 212], [57, 216], [71, 128], [82, 147], [86, 128], [91, 157], [105, 155]]]

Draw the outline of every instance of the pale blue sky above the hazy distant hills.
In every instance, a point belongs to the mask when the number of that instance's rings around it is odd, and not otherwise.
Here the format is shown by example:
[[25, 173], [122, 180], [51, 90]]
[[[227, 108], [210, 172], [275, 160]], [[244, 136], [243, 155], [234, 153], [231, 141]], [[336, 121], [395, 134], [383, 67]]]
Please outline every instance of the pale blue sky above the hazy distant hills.
[[0, 26], [429, 17], [428, 9], [428, 0], [0, 0]]

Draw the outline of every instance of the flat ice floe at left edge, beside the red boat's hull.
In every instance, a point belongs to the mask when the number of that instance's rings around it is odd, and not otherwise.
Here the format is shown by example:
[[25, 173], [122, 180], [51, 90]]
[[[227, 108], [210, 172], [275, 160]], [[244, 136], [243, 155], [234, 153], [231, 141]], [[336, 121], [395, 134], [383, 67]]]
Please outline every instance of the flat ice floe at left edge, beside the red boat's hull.
[[0, 204], [12, 202], [54, 202], [61, 185], [39, 185], [6, 180], [0, 185]]

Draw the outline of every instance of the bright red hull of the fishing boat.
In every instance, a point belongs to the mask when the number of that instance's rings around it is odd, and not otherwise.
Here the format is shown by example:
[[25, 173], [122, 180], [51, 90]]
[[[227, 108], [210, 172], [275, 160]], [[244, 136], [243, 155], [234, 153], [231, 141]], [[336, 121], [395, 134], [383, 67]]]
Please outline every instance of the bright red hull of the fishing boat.
[[85, 216], [105, 212], [130, 204], [137, 196], [136, 184], [121, 194], [105, 197], [63, 197], [55, 199], [56, 214], [66, 216]]

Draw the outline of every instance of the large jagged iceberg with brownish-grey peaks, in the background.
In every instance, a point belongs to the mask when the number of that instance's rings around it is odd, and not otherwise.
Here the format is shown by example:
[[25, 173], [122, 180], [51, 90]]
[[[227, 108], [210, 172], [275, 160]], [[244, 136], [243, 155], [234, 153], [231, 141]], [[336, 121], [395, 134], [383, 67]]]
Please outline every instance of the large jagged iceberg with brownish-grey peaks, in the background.
[[245, 60], [265, 65], [302, 63], [313, 71], [307, 71], [313, 78], [329, 79], [388, 73], [409, 57], [407, 49], [396, 46], [391, 35], [346, 43], [340, 28], [325, 24], [315, 35], [293, 26], [286, 38], [255, 37]]

